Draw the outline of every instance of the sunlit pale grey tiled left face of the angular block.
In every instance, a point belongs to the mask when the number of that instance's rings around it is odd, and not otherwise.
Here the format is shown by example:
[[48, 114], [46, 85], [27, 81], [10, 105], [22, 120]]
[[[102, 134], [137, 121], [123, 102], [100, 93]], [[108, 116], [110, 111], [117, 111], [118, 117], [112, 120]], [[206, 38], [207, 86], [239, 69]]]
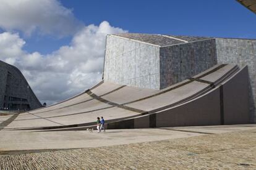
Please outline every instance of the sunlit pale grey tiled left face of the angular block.
[[160, 48], [107, 36], [104, 79], [147, 89], [160, 89]]

